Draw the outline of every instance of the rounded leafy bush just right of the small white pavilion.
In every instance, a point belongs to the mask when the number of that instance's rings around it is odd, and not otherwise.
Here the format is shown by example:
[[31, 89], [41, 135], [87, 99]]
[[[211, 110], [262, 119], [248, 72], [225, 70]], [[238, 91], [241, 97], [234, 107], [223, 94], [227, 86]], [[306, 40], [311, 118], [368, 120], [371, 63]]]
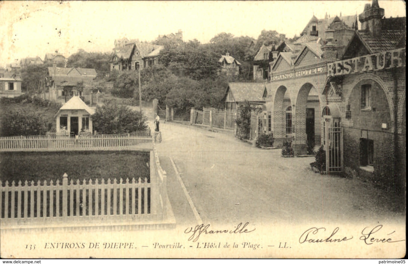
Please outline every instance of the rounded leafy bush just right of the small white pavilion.
[[118, 105], [116, 100], [105, 101], [97, 106], [92, 115], [95, 130], [102, 134], [130, 133], [147, 129], [147, 117], [127, 106]]

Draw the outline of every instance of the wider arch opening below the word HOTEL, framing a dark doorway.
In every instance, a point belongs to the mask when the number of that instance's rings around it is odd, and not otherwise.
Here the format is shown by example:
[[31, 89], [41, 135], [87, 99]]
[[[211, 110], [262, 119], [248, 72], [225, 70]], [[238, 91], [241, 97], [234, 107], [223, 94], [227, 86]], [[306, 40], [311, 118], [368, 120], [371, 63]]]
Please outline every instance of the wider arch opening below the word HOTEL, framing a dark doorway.
[[295, 154], [313, 151], [321, 144], [319, 92], [313, 84], [305, 83], [299, 89], [295, 106]]

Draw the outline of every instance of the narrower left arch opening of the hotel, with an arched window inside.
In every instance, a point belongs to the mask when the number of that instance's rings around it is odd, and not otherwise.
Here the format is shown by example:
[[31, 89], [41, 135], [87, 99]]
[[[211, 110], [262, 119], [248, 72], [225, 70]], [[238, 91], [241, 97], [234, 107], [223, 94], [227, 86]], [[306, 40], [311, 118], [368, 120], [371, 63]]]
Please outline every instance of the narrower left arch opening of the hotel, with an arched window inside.
[[[286, 109], [291, 106], [290, 93], [285, 86], [279, 86], [273, 101], [273, 137], [275, 145], [282, 145], [287, 138]], [[291, 124], [293, 128], [293, 124]], [[293, 131], [293, 130], [291, 130]]]

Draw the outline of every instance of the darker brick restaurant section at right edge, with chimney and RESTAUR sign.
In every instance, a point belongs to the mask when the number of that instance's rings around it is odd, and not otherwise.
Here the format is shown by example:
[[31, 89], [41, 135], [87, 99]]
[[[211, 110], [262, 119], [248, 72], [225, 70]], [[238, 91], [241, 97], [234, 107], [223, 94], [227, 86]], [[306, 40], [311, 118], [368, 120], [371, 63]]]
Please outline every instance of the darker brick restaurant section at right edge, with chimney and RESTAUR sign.
[[327, 76], [339, 84], [342, 99], [336, 104], [344, 129], [344, 172], [405, 189], [406, 18], [390, 27], [383, 16], [376, 0], [366, 4], [361, 30], [342, 60], [328, 64]]

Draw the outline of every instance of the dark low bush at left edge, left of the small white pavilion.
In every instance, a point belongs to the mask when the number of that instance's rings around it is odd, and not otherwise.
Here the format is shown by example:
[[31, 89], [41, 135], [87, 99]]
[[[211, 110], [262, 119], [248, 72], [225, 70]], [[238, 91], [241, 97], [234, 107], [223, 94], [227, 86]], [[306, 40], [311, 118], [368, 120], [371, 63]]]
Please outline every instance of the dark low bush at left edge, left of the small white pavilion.
[[43, 135], [46, 122], [37, 113], [7, 111], [0, 121], [0, 136]]

